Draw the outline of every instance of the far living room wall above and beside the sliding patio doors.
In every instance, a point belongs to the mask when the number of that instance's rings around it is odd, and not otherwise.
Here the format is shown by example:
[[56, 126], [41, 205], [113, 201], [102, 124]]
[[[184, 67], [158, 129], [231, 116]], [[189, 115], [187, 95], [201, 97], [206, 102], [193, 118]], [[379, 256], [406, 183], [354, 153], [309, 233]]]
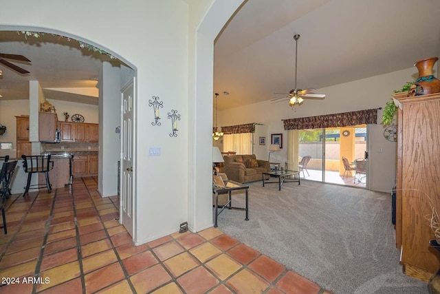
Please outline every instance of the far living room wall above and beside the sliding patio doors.
[[[263, 123], [267, 126], [266, 140], [270, 142], [271, 134], [283, 134], [283, 145], [285, 145], [287, 131], [284, 130], [282, 119], [383, 108], [391, 98], [393, 90], [399, 90], [407, 81], [415, 81], [417, 76], [417, 68], [410, 67], [398, 72], [325, 87], [316, 91], [327, 95], [324, 100], [305, 100], [303, 105], [294, 109], [289, 106], [288, 101], [274, 104], [265, 101], [245, 107], [226, 109], [219, 112], [219, 126]], [[378, 124], [369, 126], [370, 189], [391, 191], [395, 183], [396, 143], [384, 138], [384, 126], [380, 125], [381, 118], [382, 110], [378, 110]], [[262, 135], [259, 134], [259, 136]], [[266, 143], [266, 149], [268, 148], [269, 145]], [[278, 162], [285, 162], [287, 149], [283, 148], [279, 152], [274, 152], [271, 155], [271, 161], [272, 156]]]

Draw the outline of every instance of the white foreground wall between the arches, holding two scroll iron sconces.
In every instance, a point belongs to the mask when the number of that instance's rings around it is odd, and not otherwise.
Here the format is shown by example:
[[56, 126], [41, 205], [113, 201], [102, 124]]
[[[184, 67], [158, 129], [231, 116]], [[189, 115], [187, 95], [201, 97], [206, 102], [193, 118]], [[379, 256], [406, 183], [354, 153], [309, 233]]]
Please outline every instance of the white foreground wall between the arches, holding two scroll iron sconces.
[[[213, 42], [242, 2], [2, 3], [8, 13], [1, 15], [1, 29], [72, 36], [108, 50], [137, 73], [136, 244], [178, 231], [186, 220], [193, 231], [212, 225], [212, 100], [206, 97], [212, 96]], [[169, 136], [166, 116], [161, 126], [151, 125], [152, 96], [164, 101], [164, 113], [175, 109], [181, 115], [177, 137]], [[161, 156], [148, 156], [149, 147], [160, 147]]]

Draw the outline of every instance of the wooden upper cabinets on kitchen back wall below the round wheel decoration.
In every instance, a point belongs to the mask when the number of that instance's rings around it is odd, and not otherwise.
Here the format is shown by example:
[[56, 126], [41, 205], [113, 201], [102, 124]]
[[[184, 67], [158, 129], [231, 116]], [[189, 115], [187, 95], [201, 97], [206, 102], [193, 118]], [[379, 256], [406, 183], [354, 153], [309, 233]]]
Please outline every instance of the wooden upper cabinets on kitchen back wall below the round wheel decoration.
[[98, 142], [97, 123], [60, 122], [61, 140], [76, 143]]

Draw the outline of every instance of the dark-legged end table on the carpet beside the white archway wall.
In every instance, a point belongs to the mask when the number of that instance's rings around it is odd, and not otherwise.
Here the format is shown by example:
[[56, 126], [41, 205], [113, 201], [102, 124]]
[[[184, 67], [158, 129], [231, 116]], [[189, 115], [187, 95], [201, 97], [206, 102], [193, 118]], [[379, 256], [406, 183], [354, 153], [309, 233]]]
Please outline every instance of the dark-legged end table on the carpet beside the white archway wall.
[[[214, 227], [217, 227], [217, 217], [225, 209], [226, 207], [228, 209], [239, 209], [246, 211], [246, 217], [245, 220], [249, 220], [249, 186], [241, 184], [240, 182], [235, 182], [233, 180], [225, 180], [224, 182], [225, 187], [219, 187], [219, 186], [212, 186], [212, 193], [215, 194], [215, 216], [214, 216]], [[246, 190], [245, 191], [245, 207], [232, 207], [232, 198], [231, 198], [231, 192], [237, 191], [237, 190]], [[228, 202], [226, 202], [223, 207], [221, 207], [219, 211], [219, 194], [228, 193]]]

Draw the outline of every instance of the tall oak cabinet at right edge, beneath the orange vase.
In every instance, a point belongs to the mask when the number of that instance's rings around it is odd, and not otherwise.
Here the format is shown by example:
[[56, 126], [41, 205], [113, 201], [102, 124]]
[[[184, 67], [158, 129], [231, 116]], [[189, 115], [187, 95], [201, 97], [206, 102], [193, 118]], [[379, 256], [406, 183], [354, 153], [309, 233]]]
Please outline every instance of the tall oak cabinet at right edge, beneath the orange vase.
[[397, 101], [396, 246], [404, 273], [428, 281], [440, 266], [426, 219], [440, 211], [440, 94]]

